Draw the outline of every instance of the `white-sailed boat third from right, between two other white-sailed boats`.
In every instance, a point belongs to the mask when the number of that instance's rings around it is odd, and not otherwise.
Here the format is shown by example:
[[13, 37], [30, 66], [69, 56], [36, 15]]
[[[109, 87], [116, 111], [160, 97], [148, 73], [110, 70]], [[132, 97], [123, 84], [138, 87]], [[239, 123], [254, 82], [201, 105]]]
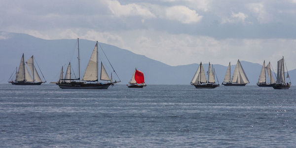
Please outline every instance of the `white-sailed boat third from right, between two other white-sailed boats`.
[[224, 77], [224, 81], [222, 82], [222, 85], [224, 86], [245, 86], [249, 82], [249, 79], [240, 63], [239, 60], [237, 60], [234, 73], [232, 75], [232, 79], [230, 81], [230, 62], [226, 70], [226, 74]]

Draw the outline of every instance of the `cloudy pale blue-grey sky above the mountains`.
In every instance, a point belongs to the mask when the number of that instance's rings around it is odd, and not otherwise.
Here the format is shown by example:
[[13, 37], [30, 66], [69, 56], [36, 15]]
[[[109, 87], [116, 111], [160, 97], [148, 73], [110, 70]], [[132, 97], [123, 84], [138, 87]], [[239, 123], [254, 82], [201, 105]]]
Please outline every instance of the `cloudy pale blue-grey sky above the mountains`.
[[296, 69], [296, 0], [1, 0], [0, 18], [0, 31], [98, 40], [171, 66], [284, 56]]

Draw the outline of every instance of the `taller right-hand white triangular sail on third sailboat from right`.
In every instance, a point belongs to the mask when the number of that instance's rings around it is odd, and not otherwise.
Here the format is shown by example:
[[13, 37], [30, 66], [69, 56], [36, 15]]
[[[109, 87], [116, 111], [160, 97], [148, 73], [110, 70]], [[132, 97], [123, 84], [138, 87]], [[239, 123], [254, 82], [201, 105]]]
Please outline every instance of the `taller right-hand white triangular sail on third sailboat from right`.
[[237, 84], [249, 83], [249, 79], [248, 79], [247, 75], [245, 74], [244, 69], [242, 68], [242, 65], [239, 60], [237, 61], [237, 64], [235, 66], [231, 82], [237, 83]]

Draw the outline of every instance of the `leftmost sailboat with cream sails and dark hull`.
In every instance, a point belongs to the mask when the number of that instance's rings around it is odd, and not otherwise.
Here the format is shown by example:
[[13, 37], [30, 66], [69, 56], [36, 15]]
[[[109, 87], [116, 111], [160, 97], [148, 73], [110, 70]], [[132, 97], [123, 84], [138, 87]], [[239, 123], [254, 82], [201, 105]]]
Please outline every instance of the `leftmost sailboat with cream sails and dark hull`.
[[[31, 76], [27, 66], [29, 67], [29, 70], [30, 70], [33, 77]], [[38, 68], [39, 68], [39, 66], [38, 66]], [[39, 68], [39, 71], [42, 74], [40, 68]], [[21, 58], [19, 69], [15, 75], [16, 75], [15, 81], [13, 81], [13, 80], [9, 81], [9, 83], [11, 83], [13, 85], [40, 85], [41, 83], [46, 82], [43, 74], [42, 74], [42, 76], [45, 81], [41, 80], [41, 78], [35, 68], [34, 56], [32, 56], [29, 60], [27, 60], [26, 64], [25, 64], [24, 53]]]

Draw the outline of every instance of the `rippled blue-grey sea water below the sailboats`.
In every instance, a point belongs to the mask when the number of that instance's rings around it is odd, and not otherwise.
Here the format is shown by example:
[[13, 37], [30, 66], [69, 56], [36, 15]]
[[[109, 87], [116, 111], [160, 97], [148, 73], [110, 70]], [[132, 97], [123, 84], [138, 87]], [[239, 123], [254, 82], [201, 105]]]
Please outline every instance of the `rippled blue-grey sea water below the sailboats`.
[[0, 84], [0, 147], [295, 148], [296, 87]]

